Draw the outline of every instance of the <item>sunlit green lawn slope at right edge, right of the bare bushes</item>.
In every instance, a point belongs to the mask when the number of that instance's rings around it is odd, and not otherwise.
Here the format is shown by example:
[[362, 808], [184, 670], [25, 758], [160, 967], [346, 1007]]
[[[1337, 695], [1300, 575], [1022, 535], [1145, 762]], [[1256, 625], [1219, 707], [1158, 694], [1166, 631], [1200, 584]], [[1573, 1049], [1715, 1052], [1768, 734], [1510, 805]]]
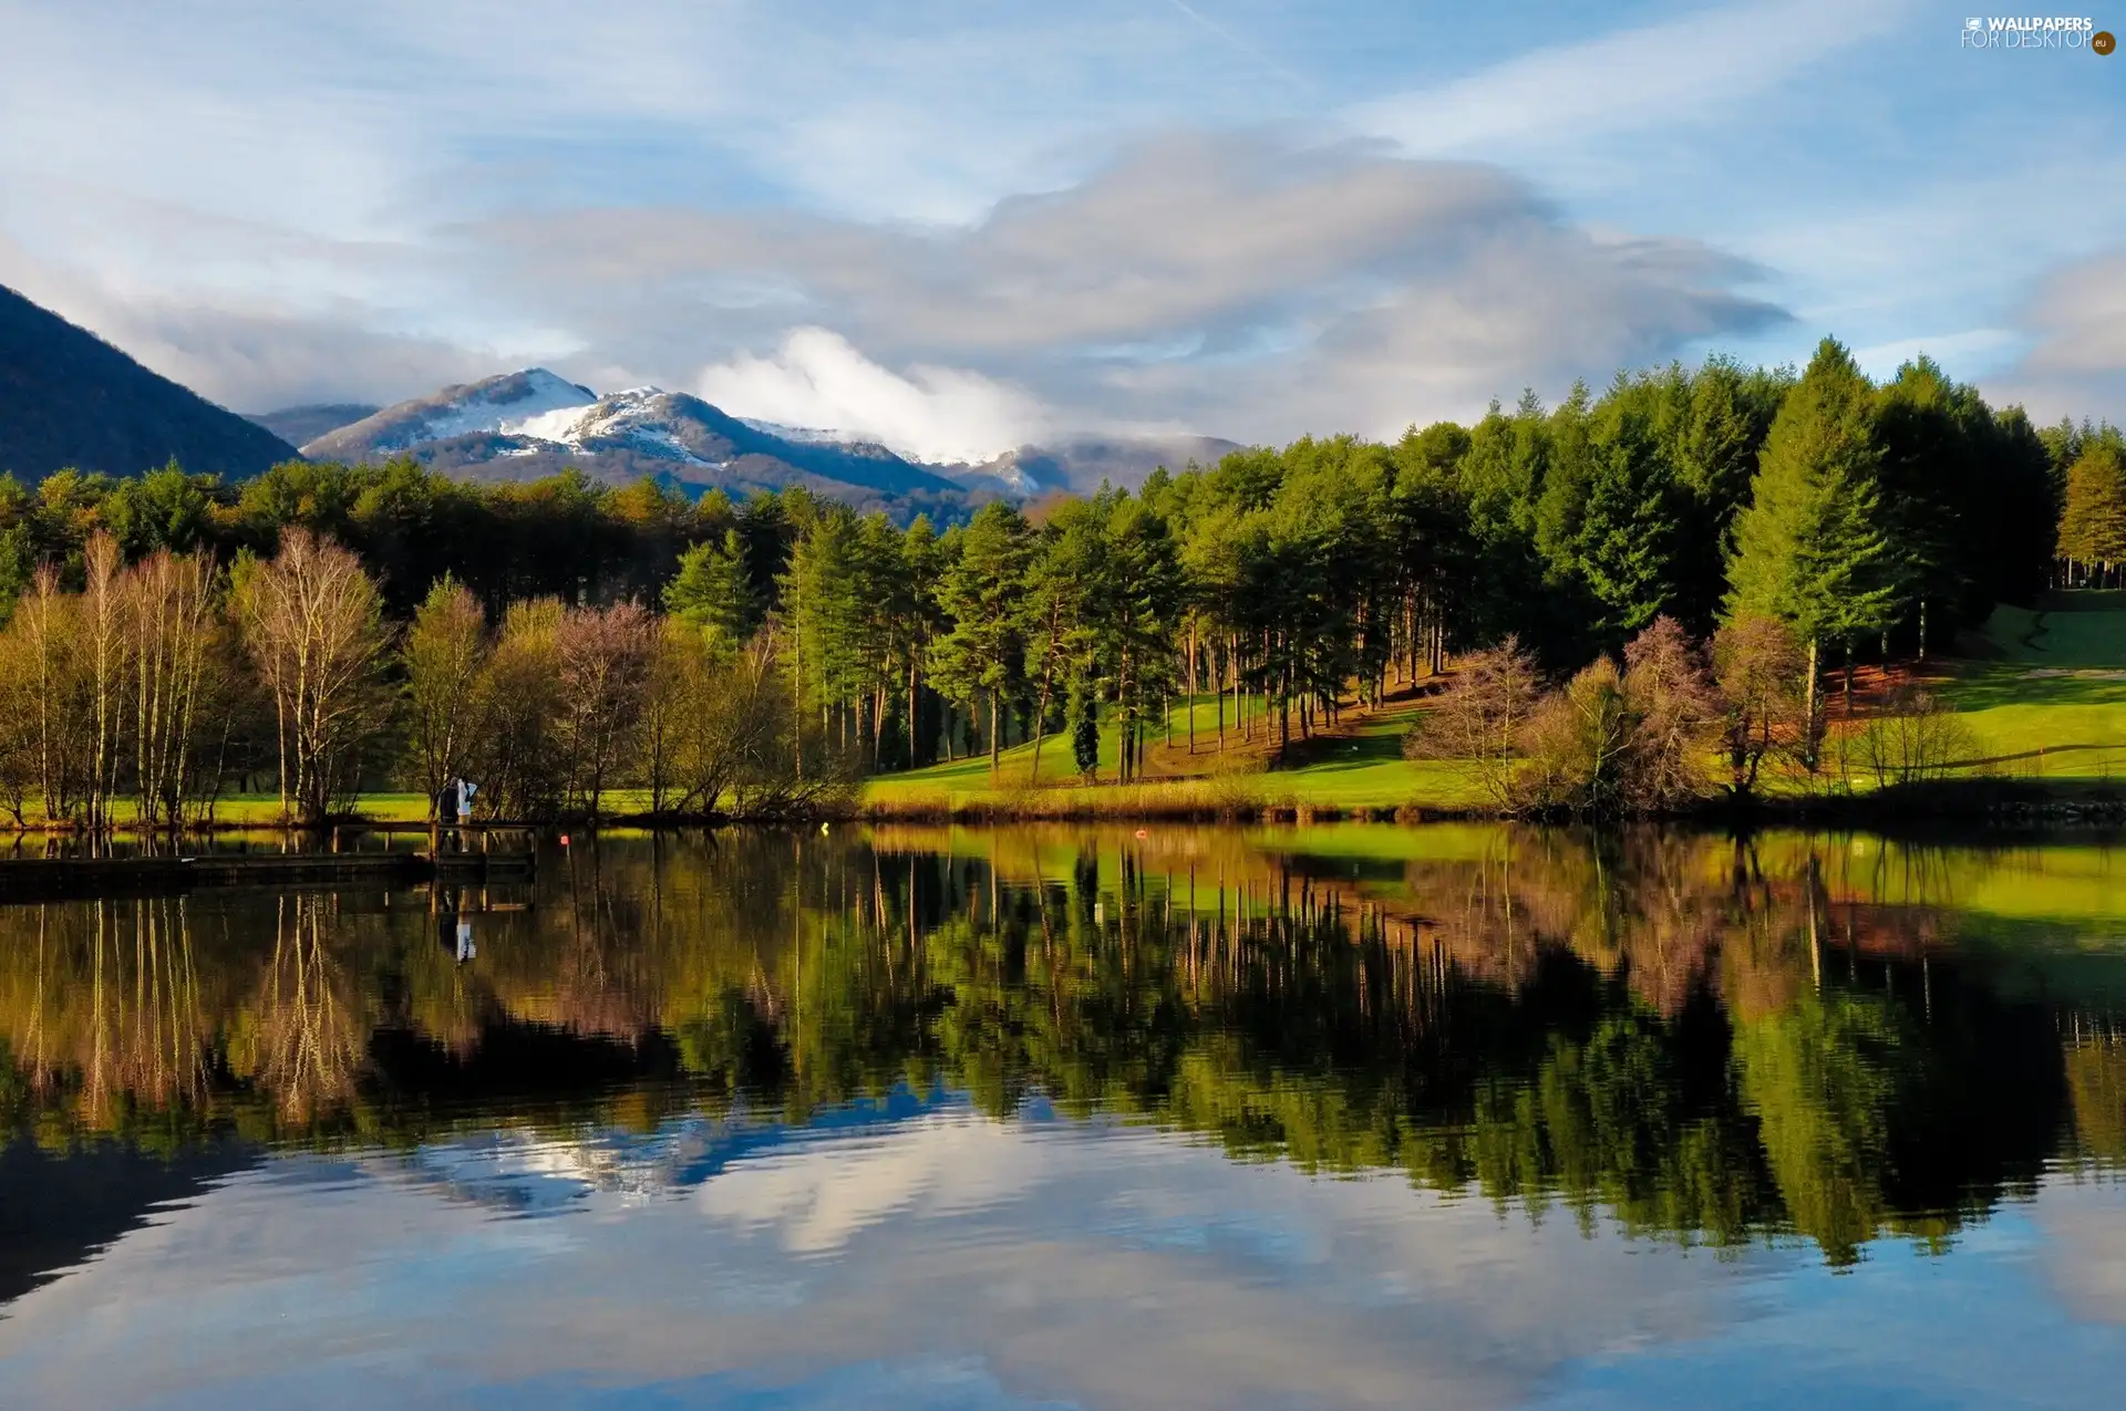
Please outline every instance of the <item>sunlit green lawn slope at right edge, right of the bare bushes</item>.
[[2056, 593], [2039, 612], [2001, 608], [1981, 646], [1943, 684], [1977, 737], [1975, 767], [2126, 780], [2126, 593]]

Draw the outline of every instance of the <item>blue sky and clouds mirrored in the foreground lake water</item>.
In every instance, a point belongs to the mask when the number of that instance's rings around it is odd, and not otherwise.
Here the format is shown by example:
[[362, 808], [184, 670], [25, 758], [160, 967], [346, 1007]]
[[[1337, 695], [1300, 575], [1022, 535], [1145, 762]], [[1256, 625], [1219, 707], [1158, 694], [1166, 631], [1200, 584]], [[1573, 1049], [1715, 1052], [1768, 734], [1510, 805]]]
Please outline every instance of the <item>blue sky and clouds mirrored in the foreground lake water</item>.
[[162, 1411], [2117, 1402], [2117, 1182], [2047, 1175], [1839, 1273], [1133, 1124], [961, 1105], [665, 1179], [695, 1139], [276, 1160], [9, 1305], [0, 1368]]

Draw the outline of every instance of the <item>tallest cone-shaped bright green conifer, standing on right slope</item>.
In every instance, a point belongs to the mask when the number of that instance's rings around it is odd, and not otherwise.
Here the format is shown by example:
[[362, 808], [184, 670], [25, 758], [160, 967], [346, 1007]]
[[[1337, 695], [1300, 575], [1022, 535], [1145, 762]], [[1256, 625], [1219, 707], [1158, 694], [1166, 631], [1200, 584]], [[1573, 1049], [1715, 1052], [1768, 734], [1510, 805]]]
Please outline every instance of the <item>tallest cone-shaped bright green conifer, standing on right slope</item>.
[[1779, 618], [1807, 644], [1811, 761], [1824, 640], [1852, 642], [1896, 612], [1873, 402], [1845, 346], [1824, 338], [1771, 423], [1728, 557], [1728, 620]]

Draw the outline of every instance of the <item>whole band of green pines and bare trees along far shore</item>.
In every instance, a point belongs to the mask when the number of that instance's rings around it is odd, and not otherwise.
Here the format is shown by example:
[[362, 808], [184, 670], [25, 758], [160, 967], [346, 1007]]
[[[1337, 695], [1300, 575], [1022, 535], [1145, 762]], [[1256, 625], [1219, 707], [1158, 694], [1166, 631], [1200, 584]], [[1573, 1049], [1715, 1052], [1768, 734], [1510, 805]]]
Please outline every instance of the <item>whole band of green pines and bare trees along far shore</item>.
[[1101, 731], [1127, 782], [1176, 703], [1276, 761], [1422, 688], [1412, 752], [1501, 810], [1663, 812], [1816, 769], [1854, 663], [2122, 563], [2115, 427], [1928, 359], [1877, 385], [1835, 340], [942, 527], [410, 461], [62, 472], [0, 480], [0, 808], [319, 822], [470, 778], [497, 818], [780, 816], [1025, 742], [1093, 780]]

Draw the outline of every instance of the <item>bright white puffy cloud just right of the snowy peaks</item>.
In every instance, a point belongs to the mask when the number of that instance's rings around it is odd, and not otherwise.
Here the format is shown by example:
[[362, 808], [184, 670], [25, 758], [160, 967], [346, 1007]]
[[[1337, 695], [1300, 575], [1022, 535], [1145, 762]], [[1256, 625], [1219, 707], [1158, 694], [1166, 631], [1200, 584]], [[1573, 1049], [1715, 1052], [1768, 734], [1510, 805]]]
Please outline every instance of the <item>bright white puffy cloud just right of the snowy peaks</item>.
[[736, 416], [855, 431], [923, 461], [984, 461], [1040, 436], [1027, 393], [959, 368], [880, 368], [823, 327], [793, 329], [770, 357], [702, 370], [704, 397]]

